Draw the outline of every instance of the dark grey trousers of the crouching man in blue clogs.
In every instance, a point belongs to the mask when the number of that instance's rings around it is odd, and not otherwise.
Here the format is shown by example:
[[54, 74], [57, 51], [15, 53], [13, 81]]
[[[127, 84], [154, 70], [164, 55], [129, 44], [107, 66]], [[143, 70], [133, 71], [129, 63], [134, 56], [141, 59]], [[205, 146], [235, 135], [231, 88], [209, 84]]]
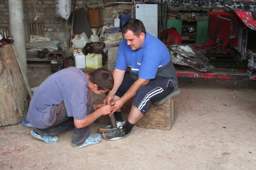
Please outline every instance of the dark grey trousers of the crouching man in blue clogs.
[[[87, 102], [87, 113], [89, 114], [91, 113], [93, 106], [93, 92], [90, 89], [88, 89]], [[67, 110], [64, 103], [55, 105], [51, 112], [52, 114], [56, 114], [56, 122], [46, 129], [39, 129], [37, 127], [33, 127], [33, 129], [38, 134], [42, 136], [54, 136], [61, 132], [74, 129], [74, 135], [72, 140], [73, 146], [82, 145], [89, 137], [91, 125], [79, 129], [76, 128], [76, 126], [74, 125], [74, 118], [67, 116]]]

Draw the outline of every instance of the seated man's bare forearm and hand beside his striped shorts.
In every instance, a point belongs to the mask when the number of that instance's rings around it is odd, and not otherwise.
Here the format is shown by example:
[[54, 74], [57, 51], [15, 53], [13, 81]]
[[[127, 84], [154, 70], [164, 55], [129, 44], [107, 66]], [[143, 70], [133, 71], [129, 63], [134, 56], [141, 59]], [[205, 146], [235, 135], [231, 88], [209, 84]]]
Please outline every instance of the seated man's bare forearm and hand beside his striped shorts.
[[132, 86], [128, 89], [128, 91], [126, 91], [126, 93], [124, 94], [124, 96], [122, 96], [121, 98], [115, 100], [112, 105], [114, 105], [114, 109], [112, 110], [110, 116], [115, 112], [115, 110], [119, 110], [121, 109], [121, 107], [128, 102], [128, 100], [132, 99], [135, 94], [137, 93], [138, 89], [147, 84], [148, 82], [150, 82], [150, 79], [141, 79], [139, 78], [137, 81], [135, 81]]

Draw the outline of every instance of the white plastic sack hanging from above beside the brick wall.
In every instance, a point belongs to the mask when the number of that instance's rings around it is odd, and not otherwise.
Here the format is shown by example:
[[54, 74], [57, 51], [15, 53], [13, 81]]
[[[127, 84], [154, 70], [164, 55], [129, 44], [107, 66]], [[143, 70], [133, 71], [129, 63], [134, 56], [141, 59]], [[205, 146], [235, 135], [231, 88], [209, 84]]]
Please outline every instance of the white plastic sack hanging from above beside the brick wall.
[[55, 16], [68, 19], [71, 13], [71, 0], [55, 0]]

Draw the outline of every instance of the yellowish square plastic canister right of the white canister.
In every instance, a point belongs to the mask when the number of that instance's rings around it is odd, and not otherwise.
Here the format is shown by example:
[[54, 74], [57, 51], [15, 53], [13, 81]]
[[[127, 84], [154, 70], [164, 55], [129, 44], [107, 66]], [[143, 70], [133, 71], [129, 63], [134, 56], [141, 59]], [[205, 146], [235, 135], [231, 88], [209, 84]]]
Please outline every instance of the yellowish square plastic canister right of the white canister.
[[102, 68], [102, 55], [101, 54], [88, 54], [85, 55], [86, 68], [98, 69]]

